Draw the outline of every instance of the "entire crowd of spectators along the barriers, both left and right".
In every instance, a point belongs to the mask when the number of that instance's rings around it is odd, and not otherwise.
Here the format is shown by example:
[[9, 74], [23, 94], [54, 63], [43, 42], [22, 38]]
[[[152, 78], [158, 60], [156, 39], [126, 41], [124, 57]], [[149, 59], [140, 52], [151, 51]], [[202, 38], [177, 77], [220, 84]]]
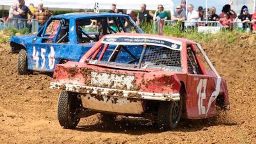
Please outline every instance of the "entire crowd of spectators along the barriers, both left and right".
[[[216, 14], [216, 8], [210, 7], [206, 10], [202, 6], [199, 6], [196, 10], [192, 4], [188, 4], [186, 7], [186, 0], [181, 0], [181, 3], [177, 5], [174, 12], [168, 13], [163, 5], [158, 5], [157, 9], [153, 13], [150, 10], [146, 9], [146, 4], [140, 5], [140, 11], [137, 16], [135, 11], [129, 10], [127, 14], [132, 17], [132, 19], [140, 25], [141, 23], [149, 23], [151, 20], [154, 22], [159, 19], [162, 20], [172, 20], [172, 21], [186, 21], [188, 27], [194, 28], [198, 25], [197, 22], [204, 21], [218, 21], [223, 28], [232, 29], [234, 22], [237, 22], [238, 19], [241, 20], [242, 28], [245, 30], [250, 28], [256, 31], [256, 12], [250, 14], [247, 6], [242, 6], [241, 12], [237, 15], [229, 4], [223, 6], [220, 14]], [[119, 13], [116, 4], [111, 5], [111, 10], [109, 12]], [[171, 14], [171, 15], [169, 15]], [[9, 10], [9, 19], [18, 18], [27, 20], [27, 23], [31, 23], [31, 19], [37, 19], [39, 24], [39, 29], [46, 23], [48, 18], [52, 15], [48, 9], [43, 8], [43, 4], [39, 3], [38, 7], [34, 7], [33, 4], [30, 4], [29, 7], [25, 5], [24, 0], [18, 0], [17, 4], [13, 4]], [[111, 25], [111, 21], [110, 21]], [[183, 24], [184, 25], [184, 24]]]

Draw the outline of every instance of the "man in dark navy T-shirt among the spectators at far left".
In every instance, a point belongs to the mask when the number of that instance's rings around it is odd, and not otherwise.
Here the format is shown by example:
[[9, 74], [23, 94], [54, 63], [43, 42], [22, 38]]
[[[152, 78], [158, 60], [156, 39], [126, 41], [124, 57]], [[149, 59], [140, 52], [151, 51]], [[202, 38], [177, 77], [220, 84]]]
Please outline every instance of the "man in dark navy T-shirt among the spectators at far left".
[[33, 17], [32, 12], [25, 5], [25, 1], [24, 0], [18, 0], [18, 5], [17, 5], [16, 9], [14, 10], [13, 14], [14, 14], [14, 18], [27, 19], [28, 18], [27, 17], [28, 14], [30, 14]]

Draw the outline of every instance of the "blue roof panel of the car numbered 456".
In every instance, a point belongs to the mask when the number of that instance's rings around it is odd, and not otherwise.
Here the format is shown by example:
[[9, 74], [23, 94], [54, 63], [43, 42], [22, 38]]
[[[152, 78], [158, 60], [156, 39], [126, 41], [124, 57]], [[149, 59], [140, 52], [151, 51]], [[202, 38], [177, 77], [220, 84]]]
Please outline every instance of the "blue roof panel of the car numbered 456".
[[94, 12], [74, 12], [74, 13], [55, 15], [55, 16], [52, 16], [52, 18], [80, 19], [80, 18], [86, 18], [86, 17], [105, 17], [105, 16], [106, 17], [129, 17], [128, 15], [125, 15], [125, 14], [116, 14], [116, 13], [110, 13], [110, 12], [100, 12], [98, 14]]

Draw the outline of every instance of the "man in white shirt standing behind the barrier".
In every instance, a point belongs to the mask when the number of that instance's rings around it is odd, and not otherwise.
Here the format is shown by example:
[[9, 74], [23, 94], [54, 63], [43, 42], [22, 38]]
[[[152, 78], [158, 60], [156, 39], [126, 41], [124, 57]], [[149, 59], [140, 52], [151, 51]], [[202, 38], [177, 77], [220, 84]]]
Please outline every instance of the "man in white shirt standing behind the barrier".
[[199, 14], [196, 10], [194, 10], [194, 6], [192, 4], [188, 5], [187, 21], [191, 21], [188, 23], [188, 27], [194, 29], [198, 18]]

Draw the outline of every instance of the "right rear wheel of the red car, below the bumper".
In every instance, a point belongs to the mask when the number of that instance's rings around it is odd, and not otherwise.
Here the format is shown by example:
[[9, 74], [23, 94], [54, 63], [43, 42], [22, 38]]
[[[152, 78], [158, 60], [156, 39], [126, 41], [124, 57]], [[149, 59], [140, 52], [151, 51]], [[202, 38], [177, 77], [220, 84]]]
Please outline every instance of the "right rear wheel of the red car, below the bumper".
[[157, 123], [159, 129], [175, 129], [182, 114], [182, 98], [180, 101], [160, 102]]

